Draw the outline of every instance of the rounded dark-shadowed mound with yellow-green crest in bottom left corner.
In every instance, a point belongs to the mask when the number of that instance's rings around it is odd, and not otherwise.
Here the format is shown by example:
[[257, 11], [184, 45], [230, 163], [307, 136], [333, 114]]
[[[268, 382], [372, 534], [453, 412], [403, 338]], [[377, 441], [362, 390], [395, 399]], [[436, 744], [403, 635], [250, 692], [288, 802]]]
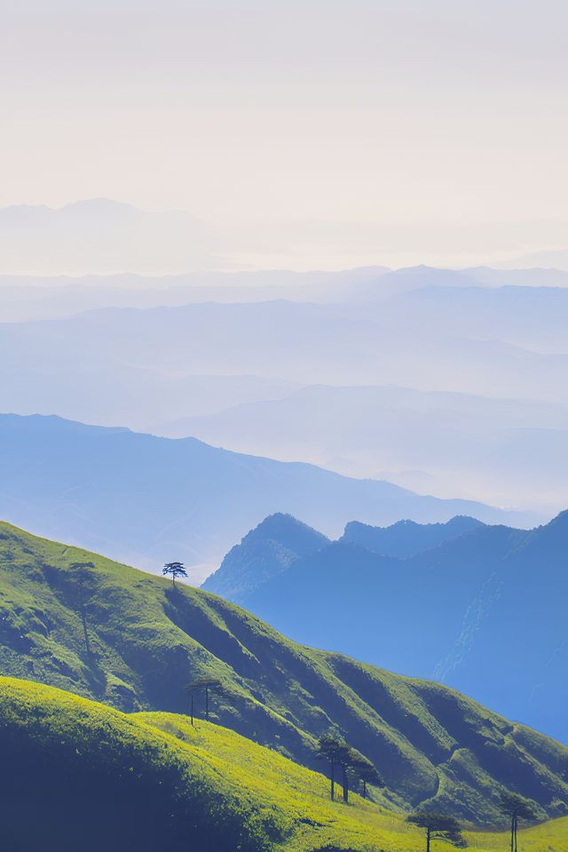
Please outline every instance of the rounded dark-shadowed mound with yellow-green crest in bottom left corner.
[[0, 752], [11, 852], [177, 852], [188, 837], [190, 848], [261, 852], [288, 829], [202, 753], [52, 687], [0, 678]]

